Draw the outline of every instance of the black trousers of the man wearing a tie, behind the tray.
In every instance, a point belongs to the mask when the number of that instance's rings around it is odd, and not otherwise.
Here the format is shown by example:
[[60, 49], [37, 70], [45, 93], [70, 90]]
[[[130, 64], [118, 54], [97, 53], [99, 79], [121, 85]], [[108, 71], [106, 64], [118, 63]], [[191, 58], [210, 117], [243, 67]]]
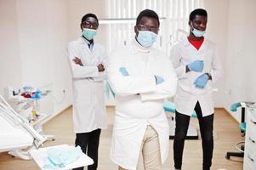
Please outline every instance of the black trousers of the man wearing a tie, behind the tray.
[[[90, 133], [77, 133], [76, 146], [79, 145], [83, 153], [94, 160], [93, 165], [88, 166], [88, 170], [96, 170], [98, 167], [98, 148], [100, 143], [100, 129], [96, 129]], [[83, 167], [75, 168], [82, 170]]]

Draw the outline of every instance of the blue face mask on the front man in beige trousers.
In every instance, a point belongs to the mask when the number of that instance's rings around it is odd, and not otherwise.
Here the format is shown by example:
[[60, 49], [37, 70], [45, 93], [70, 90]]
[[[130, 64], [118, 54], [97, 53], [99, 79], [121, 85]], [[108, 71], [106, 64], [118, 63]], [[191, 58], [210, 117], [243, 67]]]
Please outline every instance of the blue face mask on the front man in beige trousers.
[[137, 41], [145, 48], [149, 48], [156, 42], [156, 33], [152, 31], [139, 31]]

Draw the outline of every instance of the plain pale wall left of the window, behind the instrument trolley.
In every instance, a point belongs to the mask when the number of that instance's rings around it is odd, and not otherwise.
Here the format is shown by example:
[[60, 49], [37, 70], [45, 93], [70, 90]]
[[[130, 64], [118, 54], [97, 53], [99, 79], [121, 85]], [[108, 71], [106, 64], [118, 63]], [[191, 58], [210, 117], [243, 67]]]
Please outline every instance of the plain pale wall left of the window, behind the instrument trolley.
[[66, 53], [67, 1], [1, 0], [0, 8], [1, 29], [5, 26], [0, 40], [0, 89], [48, 86], [52, 87], [56, 100], [62, 99], [65, 90], [65, 99], [60, 103], [52, 99], [53, 113], [59, 113], [71, 105], [71, 73]]

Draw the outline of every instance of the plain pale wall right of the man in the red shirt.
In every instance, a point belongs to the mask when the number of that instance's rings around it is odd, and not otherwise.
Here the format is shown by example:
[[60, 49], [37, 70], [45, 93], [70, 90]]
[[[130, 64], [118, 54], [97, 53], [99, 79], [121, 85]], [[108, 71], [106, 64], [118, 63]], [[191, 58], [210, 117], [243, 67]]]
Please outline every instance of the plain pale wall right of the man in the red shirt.
[[[230, 111], [237, 101], [256, 101], [256, 1], [205, 0], [208, 9], [208, 35], [217, 42], [225, 64], [225, 77], [219, 82], [217, 105]], [[235, 114], [240, 121], [240, 111]]]

